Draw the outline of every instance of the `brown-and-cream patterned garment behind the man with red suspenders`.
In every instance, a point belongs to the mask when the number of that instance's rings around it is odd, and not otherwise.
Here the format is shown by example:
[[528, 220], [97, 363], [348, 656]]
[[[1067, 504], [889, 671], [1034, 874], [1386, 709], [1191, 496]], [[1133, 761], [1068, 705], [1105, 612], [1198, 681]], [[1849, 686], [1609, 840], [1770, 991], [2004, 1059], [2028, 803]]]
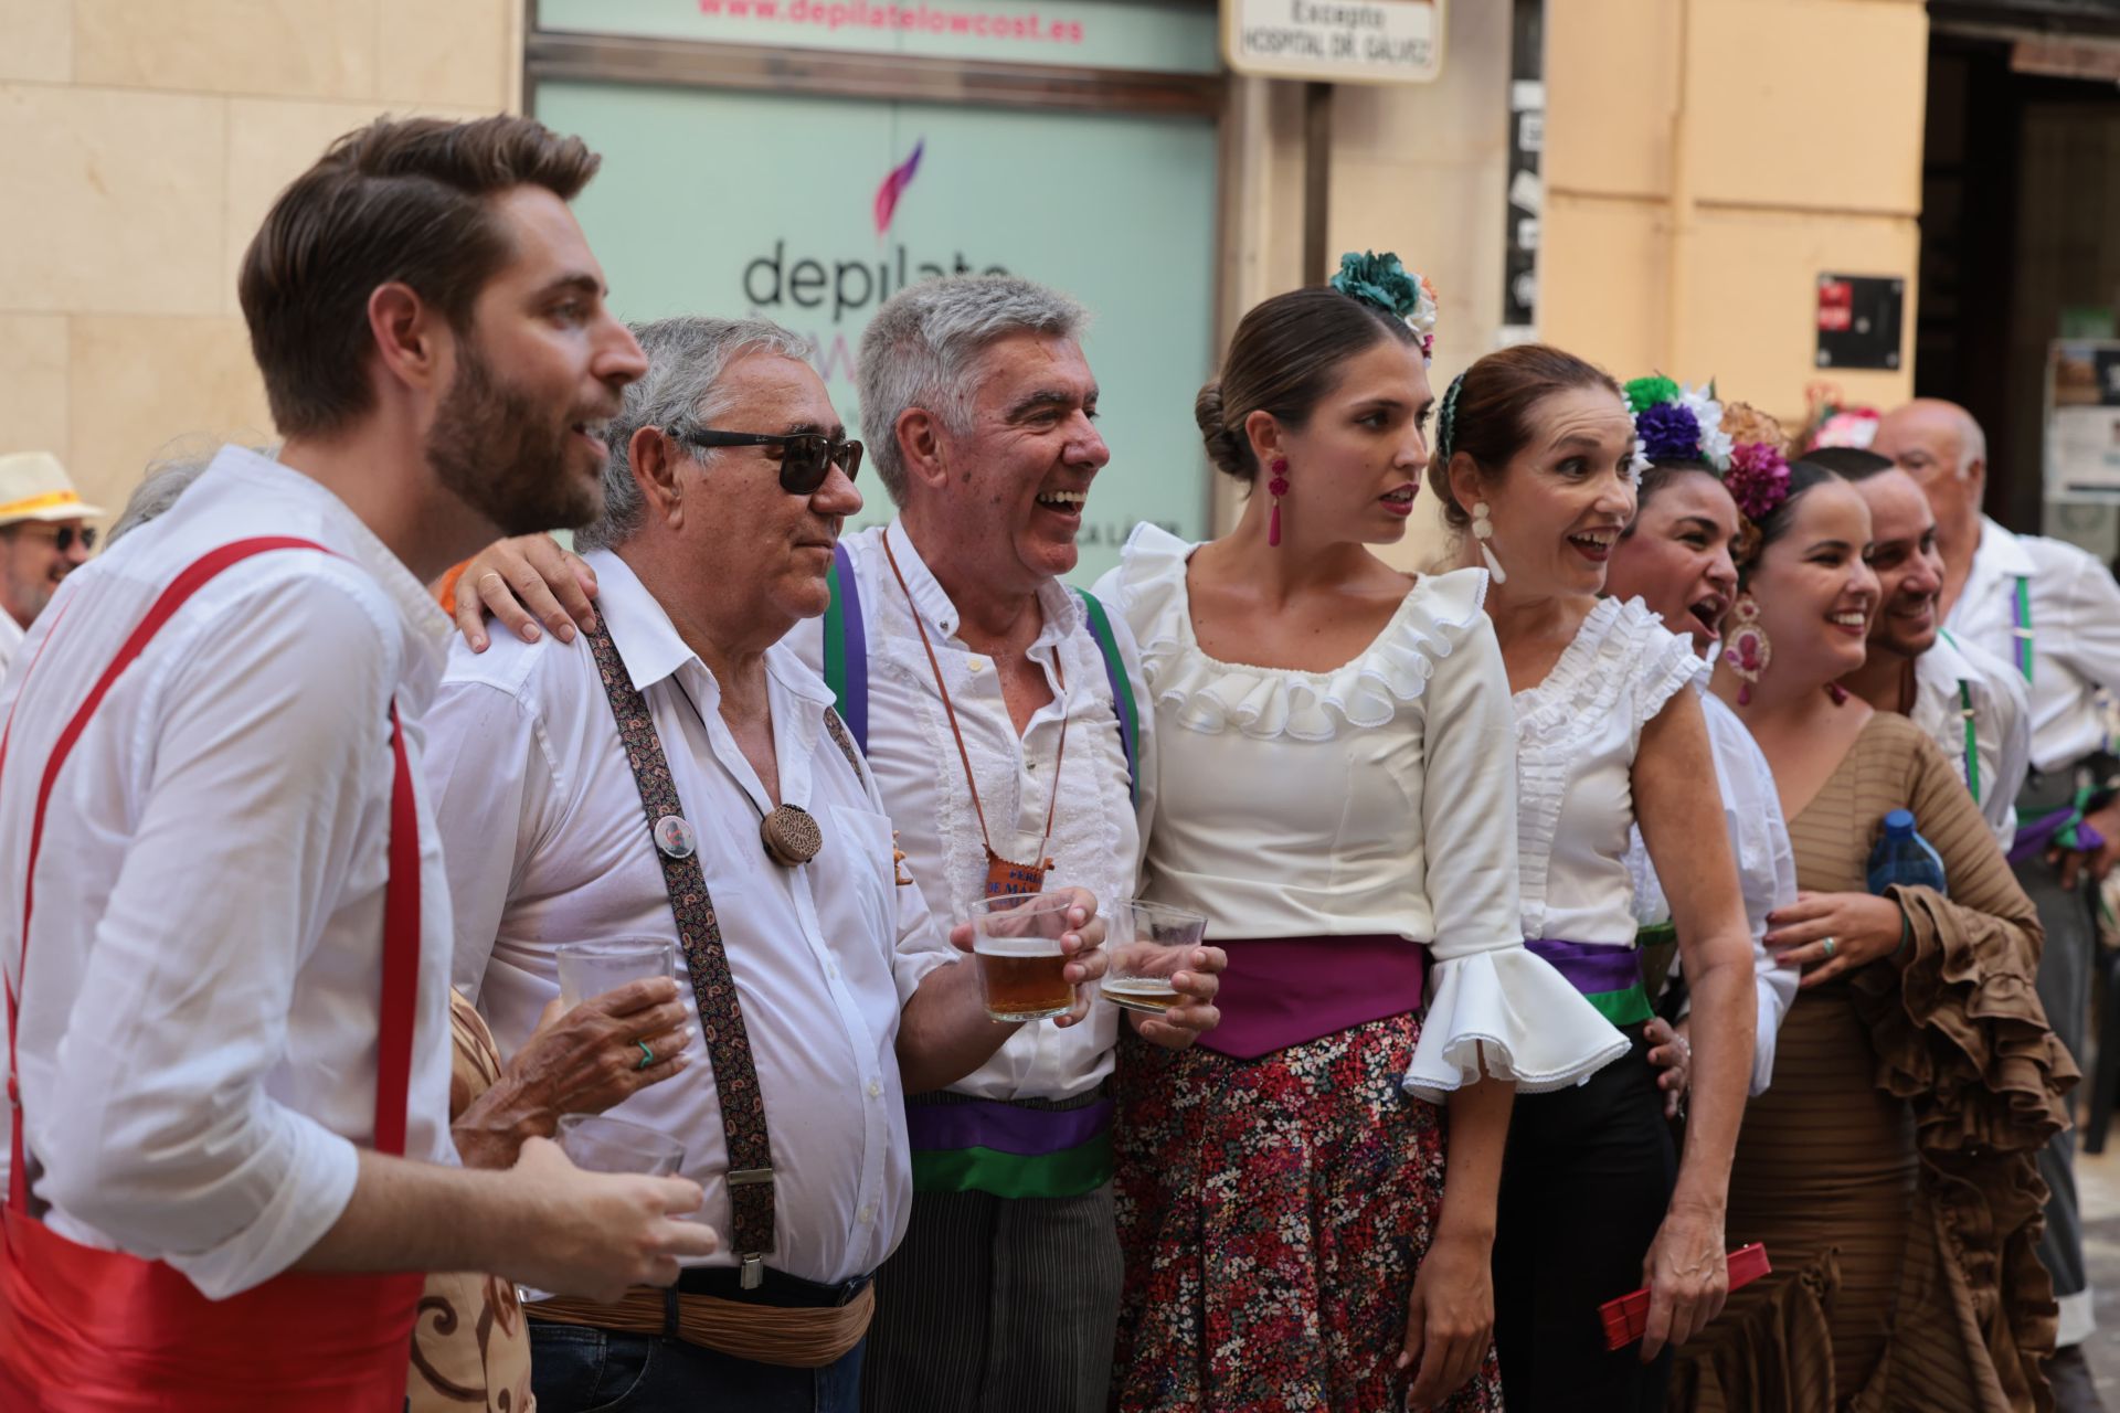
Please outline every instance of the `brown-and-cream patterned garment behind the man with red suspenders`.
[[[500, 1049], [485, 1021], [449, 991], [449, 1119], [500, 1078]], [[498, 1275], [428, 1275], [411, 1330], [407, 1413], [536, 1413], [530, 1332], [515, 1286]]]

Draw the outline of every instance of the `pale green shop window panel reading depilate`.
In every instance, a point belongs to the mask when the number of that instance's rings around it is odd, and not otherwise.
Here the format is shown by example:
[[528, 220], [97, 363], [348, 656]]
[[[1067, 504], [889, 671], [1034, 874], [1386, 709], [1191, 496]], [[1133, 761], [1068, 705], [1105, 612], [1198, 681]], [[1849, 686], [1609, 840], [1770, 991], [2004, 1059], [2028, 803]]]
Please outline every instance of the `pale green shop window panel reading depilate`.
[[[776, 320], [810, 341], [848, 428], [861, 333], [909, 282], [1005, 271], [1073, 294], [1111, 464], [1071, 578], [1117, 564], [1141, 521], [1206, 536], [1191, 407], [1215, 362], [1211, 121], [611, 83], [541, 83], [536, 117], [604, 155], [575, 210], [619, 316]], [[852, 525], [890, 519], [869, 470], [861, 494]]]

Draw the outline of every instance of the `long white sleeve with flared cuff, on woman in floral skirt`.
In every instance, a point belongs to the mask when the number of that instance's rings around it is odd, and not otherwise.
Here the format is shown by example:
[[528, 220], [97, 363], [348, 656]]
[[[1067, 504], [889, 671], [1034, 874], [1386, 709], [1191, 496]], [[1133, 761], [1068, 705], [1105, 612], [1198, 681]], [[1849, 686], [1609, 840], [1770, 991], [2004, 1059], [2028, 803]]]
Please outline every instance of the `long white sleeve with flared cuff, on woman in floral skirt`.
[[[1452, 583], [1459, 580], [1459, 583]], [[1524, 1093], [1565, 1089], [1626, 1053], [1628, 1042], [1560, 972], [1524, 949], [1516, 877], [1516, 716], [1495, 625], [1480, 604], [1486, 574], [1425, 580], [1435, 616], [1469, 604], [1427, 684], [1423, 830], [1435, 907], [1433, 966], [1420, 1044], [1406, 1089], [1433, 1104], [1484, 1074]]]

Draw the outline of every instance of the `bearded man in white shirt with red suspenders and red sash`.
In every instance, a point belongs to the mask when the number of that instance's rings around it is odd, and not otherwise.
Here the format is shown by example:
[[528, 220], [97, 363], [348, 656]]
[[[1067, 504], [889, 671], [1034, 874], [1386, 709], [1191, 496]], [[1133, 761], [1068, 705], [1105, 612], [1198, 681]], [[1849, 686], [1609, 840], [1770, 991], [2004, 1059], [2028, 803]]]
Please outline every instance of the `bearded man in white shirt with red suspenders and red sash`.
[[528, 119], [337, 142], [242, 265], [280, 458], [225, 449], [23, 644], [4, 1407], [396, 1409], [420, 1271], [608, 1296], [714, 1248], [685, 1180], [452, 1165], [422, 583], [600, 506], [640, 350], [594, 169]]

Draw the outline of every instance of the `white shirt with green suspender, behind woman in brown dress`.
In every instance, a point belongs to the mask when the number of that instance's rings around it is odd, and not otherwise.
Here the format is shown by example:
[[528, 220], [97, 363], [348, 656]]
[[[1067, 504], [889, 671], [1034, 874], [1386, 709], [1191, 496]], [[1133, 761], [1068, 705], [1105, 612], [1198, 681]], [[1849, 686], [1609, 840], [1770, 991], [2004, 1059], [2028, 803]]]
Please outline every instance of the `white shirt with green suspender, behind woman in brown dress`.
[[2031, 771], [2031, 703], [2022, 674], [1984, 648], [1948, 631], [1938, 633], [1936, 644], [1914, 659], [1914, 705], [1906, 716], [1957, 767], [2008, 854], [2016, 843], [2016, 792]]

